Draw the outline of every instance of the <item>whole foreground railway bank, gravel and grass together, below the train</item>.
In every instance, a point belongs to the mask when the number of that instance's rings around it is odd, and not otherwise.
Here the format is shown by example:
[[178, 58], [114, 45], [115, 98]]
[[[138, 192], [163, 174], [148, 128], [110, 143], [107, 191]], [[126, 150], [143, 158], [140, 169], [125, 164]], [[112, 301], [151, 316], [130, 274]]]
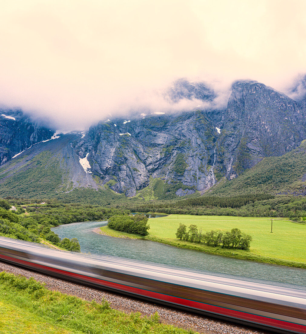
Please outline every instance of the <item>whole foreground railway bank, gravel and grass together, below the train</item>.
[[[33, 282], [32, 288], [27, 289], [22, 280], [18, 281], [17, 279], [16, 281], [15, 278], [2, 282], [0, 294], [3, 298], [0, 302], [0, 312], [2, 309], [3, 315], [6, 316], [6, 320], [8, 321], [3, 326], [17, 326], [20, 329], [26, 327], [27, 323], [31, 321], [31, 328], [33, 328], [33, 325], [34, 327], [37, 326], [37, 333], [41, 333], [42, 328], [44, 333], [48, 334], [74, 333], [71, 330], [72, 326], [78, 329], [76, 333], [88, 333], [89, 327], [86, 326], [88, 325], [89, 317], [87, 316], [98, 315], [100, 313], [104, 318], [108, 319], [108, 323], [102, 323], [100, 318], [97, 318], [97, 322], [92, 321], [91, 317], [91, 333], [100, 333], [108, 325], [109, 330], [107, 333], [123, 334], [131, 333], [133, 332], [132, 330], [138, 330], [134, 331], [135, 333], [148, 334], [187, 334], [193, 332], [203, 334], [265, 333], [179, 312], [105, 290], [97, 290], [66, 282], [0, 262], [0, 272], [2, 271], [21, 275], [27, 279], [32, 278], [44, 284], [44, 289], [48, 290], [47, 293], [42, 292], [41, 288], [35, 282]], [[31, 290], [32, 292], [29, 292]], [[67, 295], [77, 298], [69, 298]], [[96, 304], [87, 303], [93, 301]], [[100, 306], [96, 306], [97, 304]], [[84, 314], [81, 312], [83, 307]], [[99, 312], [95, 313], [97, 310]], [[158, 317], [156, 312], [158, 313]], [[40, 318], [39, 322], [35, 323], [37, 315]], [[9, 318], [10, 316], [12, 317]], [[78, 319], [77, 317], [80, 318]], [[174, 327], [167, 327], [167, 325]], [[1, 326], [2, 323], [0, 322], [0, 329], [2, 330]], [[5, 327], [3, 329], [5, 330]], [[125, 331], [126, 329], [128, 331]], [[4, 333], [11, 332], [4, 331]]]

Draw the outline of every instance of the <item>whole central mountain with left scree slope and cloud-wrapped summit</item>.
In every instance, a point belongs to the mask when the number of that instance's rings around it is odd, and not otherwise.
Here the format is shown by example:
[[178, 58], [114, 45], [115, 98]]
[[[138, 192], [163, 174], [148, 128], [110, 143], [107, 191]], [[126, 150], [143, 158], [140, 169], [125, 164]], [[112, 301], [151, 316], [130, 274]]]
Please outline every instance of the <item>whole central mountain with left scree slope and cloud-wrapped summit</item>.
[[[215, 97], [204, 83], [186, 80], [171, 92], [172, 100]], [[299, 147], [305, 116], [286, 95], [256, 81], [236, 81], [224, 109], [116, 118], [31, 148], [29, 142], [0, 167], [0, 194], [47, 197], [86, 188], [114, 198], [170, 199], [203, 193], [226, 179], [242, 180], [265, 157]]]

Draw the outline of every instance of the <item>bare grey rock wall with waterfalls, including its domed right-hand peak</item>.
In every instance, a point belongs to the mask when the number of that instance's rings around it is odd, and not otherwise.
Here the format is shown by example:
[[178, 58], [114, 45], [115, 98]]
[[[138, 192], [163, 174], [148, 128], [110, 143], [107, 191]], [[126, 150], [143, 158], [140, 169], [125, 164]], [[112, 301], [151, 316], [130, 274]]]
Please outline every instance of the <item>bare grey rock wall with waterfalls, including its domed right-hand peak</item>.
[[88, 154], [93, 175], [116, 192], [134, 196], [151, 176], [185, 195], [305, 138], [305, 112], [295, 101], [262, 83], [237, 81], [226, 110], [100, 122], [74, 148], [80, 158]]

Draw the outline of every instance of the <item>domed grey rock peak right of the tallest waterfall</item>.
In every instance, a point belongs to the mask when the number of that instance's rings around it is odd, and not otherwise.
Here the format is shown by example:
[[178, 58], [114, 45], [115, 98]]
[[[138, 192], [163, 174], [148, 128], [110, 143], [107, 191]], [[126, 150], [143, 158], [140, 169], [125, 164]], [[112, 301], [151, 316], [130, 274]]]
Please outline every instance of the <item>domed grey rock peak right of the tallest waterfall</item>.
[[234, 82], [218, 141], [227, 177], [299, 146], [306, 138], [305, 115], [295, 101], [262, 83]]

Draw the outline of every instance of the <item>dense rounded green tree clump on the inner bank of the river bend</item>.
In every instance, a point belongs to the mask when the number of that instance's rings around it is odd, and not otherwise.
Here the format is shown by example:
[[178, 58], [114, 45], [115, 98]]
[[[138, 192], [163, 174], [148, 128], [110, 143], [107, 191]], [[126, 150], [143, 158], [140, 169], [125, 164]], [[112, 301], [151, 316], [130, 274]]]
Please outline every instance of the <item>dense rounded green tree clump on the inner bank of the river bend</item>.
[[148, 235], [150, 225], [148, 218], [144, 214], [118, 215], [111, 217], [108, 221], [108, 227], [117, 231]]

